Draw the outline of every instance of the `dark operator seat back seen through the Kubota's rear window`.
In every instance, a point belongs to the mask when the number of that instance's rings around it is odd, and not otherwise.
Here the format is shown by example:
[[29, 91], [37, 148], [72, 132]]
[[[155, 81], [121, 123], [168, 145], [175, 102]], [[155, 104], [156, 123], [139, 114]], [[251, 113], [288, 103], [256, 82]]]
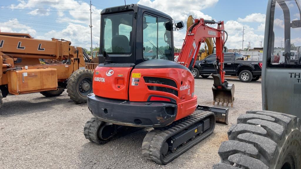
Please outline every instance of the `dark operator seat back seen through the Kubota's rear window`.
[[113, 53], [129, 53], [129, 39], [125, 35], [115, 35], [112, 37], [112, 52]]

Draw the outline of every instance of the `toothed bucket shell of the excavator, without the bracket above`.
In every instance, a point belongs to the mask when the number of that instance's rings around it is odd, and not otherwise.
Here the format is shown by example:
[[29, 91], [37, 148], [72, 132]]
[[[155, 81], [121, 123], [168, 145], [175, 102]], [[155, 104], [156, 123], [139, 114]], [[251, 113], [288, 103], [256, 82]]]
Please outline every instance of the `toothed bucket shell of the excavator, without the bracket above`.
[[213, 105], [215, 105], [215, 102], [217, 102], [217, 105], [219, 105], [219, 103], [222, 103], [222, 106], [224, 106], [224, 104], [226, 103], [226, 106], [231, 104], [231, 107], [233, 107], [234, 84], [228, 84], [228, 87], [225, 89], [218, 89], [213, 86], [212, 91]]

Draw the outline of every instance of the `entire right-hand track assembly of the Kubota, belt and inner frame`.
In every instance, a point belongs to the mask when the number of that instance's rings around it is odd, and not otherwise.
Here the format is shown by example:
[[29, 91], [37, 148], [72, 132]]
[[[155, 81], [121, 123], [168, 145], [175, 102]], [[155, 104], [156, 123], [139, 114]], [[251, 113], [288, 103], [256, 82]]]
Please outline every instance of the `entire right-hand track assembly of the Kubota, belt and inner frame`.
[[196, 110], [169, 126], [148, 132], [142, 143], [142, 155], [165, 165], [212, 134], [215, 123], [213, 112]]

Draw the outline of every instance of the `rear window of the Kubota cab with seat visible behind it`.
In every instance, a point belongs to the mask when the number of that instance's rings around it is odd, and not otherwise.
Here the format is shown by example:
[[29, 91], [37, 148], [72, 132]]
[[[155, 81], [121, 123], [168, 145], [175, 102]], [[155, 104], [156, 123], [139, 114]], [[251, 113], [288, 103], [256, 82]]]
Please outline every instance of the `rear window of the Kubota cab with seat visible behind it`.
[[129, 11], [103, 16], [101, 53], [131, 54], [133, 13]]

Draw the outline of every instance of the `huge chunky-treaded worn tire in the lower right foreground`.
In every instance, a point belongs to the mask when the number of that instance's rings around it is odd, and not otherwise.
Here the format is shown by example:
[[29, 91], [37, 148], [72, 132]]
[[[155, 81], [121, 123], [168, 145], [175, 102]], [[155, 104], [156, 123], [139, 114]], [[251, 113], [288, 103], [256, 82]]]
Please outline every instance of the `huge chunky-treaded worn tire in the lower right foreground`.
[[248, 111], [228, 131], [213, 169], [301, 169], [301, 120], [271, 111]]

